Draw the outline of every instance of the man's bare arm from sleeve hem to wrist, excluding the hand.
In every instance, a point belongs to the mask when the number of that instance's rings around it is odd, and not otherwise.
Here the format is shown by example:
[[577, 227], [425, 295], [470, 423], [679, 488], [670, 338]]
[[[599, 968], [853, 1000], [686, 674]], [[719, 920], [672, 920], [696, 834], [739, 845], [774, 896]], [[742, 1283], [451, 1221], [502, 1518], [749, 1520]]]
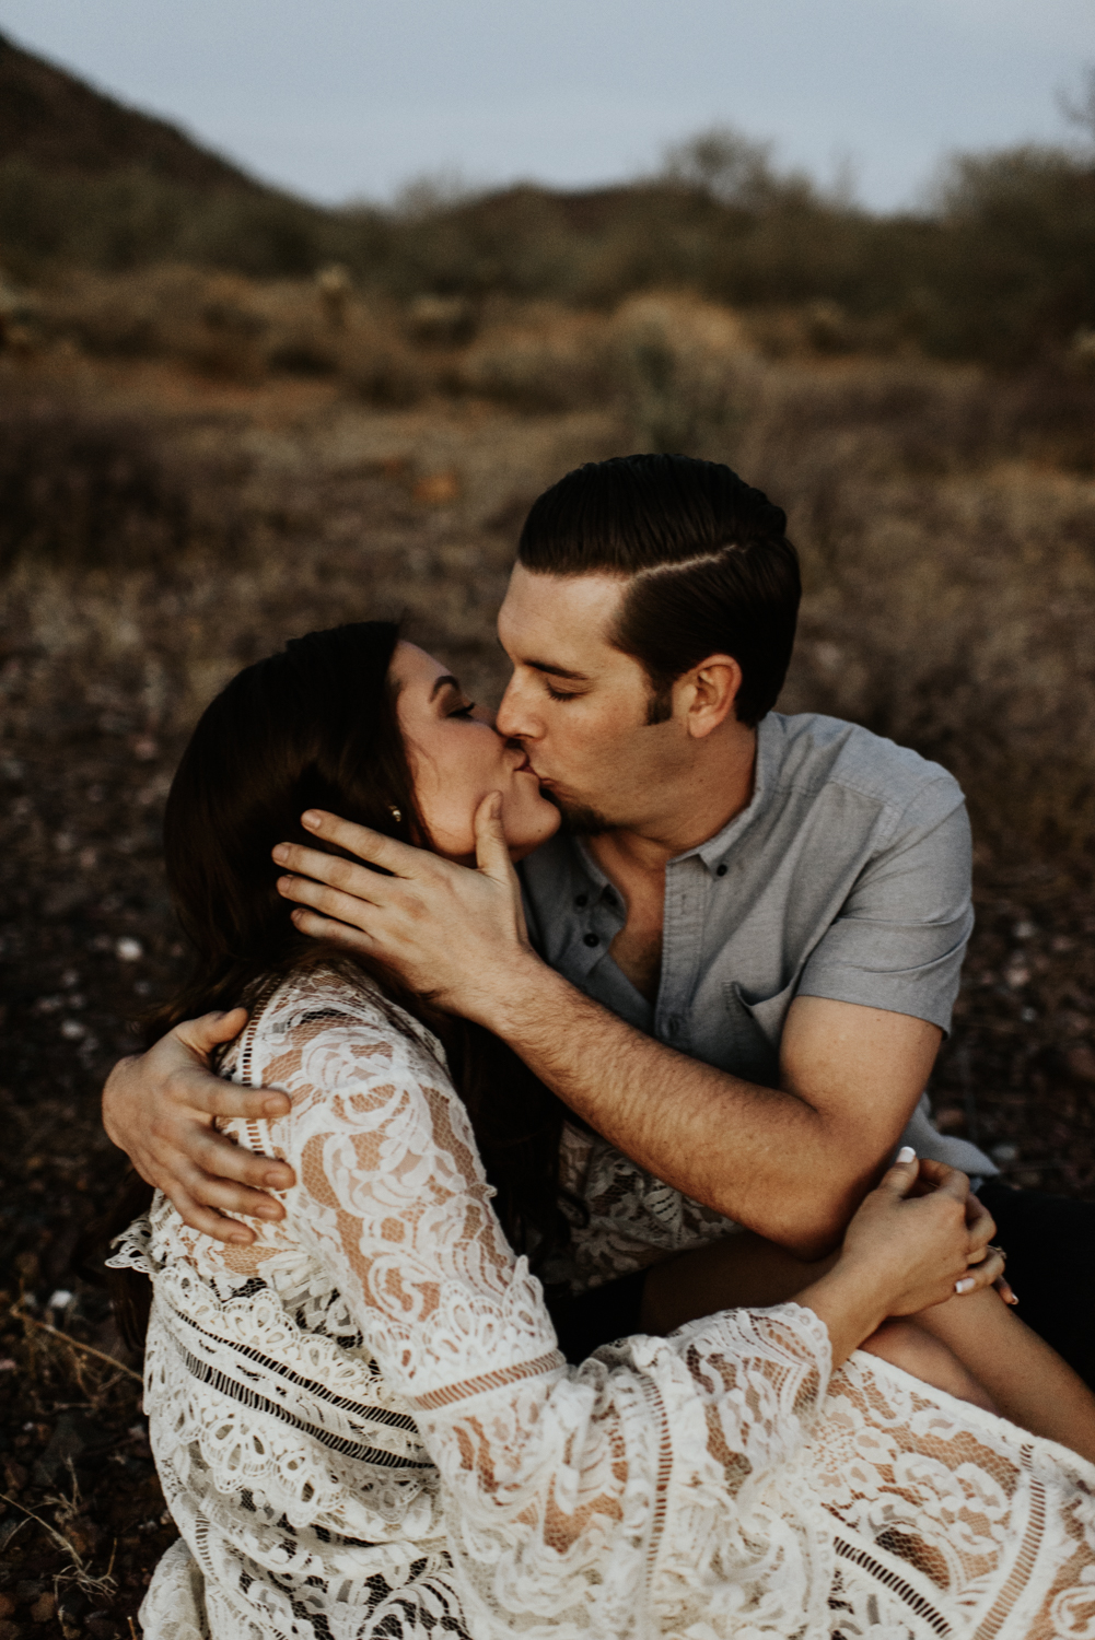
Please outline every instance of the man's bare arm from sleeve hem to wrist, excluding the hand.
[[645, 1036], [535, 956], [478, 1017], [655, 1178], [803, 1258], [839, 1241], [878, 1181], [942, 1035], [906, 1014], [798, 997], [780, 1087], [763, 1087]]

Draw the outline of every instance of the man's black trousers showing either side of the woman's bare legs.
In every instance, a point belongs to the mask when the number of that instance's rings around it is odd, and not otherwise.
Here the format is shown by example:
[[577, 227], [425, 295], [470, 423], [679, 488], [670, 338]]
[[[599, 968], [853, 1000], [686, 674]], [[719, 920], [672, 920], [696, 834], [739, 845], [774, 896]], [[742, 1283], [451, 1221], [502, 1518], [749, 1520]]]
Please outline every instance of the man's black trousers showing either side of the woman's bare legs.
[[[1095, 1389], [1095, 1202], [1013, 1191], [998, 1179], [978, 1196], [1008, 1255], [1018, 1314]], [[560, 1350], [575, 1364], [598, 1345], [640, 1332], [645, 1271], [552, 1305]]]

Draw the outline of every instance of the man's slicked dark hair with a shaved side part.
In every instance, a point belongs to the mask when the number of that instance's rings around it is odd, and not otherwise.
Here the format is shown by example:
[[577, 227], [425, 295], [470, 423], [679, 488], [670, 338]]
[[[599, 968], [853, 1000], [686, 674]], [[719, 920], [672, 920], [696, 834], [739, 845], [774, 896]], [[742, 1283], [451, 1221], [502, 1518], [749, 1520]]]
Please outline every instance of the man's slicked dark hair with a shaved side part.
[[719, 461], [616, 456], [576, 467], [532, 505], [517, 563], [537, 576], [630, 581], [611, 633], [645, 669], [650, 722], [709, 654], [742, 669], [735, 713], [758, 723], [783, 687], [801, 581], [786, 513]]

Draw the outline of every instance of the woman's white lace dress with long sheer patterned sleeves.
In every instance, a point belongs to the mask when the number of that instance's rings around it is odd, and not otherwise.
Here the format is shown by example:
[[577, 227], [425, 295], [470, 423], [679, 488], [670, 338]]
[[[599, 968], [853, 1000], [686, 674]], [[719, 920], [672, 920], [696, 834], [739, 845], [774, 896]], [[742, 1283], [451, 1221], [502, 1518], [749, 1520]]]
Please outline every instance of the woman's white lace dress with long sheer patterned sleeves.
[[[154, 1282], [181, 1532], [151, 1640], [1095, 1635], [1095, 1469], [873, 1356], [831, 1378], [811, 1310], [566, 1366], [438, 1045], [376, 992], [282, 984], [233, 1076], [292, 1096], [233, 1125], [296, 1168], [286, 1220], [233, 1250], [158, 1199], [118, 1255]], [[614, 1156], [570, 1138], [619, 1207]], [[594, 1210], [586, 1281], [726, 1230], [653, 1181], [629, 1200]]]

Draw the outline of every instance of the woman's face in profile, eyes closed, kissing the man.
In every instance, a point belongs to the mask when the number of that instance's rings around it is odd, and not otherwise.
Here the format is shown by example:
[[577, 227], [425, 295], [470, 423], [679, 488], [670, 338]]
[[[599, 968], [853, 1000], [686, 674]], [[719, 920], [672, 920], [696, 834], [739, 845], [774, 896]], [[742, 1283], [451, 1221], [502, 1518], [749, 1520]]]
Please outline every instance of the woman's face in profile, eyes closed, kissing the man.
[[396, 645], [391, 677], [419, 812], [437, 853], [474, 861], [474, 812], [489, 792], [502, 794], [514, 859], [547, 841], [560, 813], [540, 795], [524, 748], [504, 741], [451, 672], [417, 645]]

